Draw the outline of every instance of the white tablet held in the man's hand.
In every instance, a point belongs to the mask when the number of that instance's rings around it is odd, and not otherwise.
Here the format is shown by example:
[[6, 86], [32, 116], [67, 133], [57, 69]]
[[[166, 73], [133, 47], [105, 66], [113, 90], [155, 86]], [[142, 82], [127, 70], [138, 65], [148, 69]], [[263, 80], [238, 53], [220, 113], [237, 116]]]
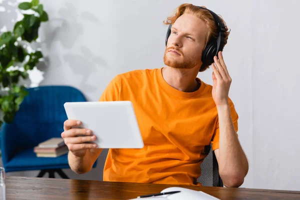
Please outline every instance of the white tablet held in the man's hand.
[[65, 102], [68, 119], [80, 120], [75, 127], [96, 135], [98, 148], [142, 148], [143, 141], [131, 101]]

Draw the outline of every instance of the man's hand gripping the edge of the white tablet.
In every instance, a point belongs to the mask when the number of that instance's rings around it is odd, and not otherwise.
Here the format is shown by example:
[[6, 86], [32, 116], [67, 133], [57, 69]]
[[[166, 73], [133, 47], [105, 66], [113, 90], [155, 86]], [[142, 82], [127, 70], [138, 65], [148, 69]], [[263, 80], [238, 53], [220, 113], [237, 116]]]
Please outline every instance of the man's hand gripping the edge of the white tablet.
[[91, 130], [86, 128], [71, 128], [80, 124], [81, 121], [78, 120], [65, 120], [63, 123], [64, 131], [61, 133], [61, 137], [69, 151], [77, 157], [83, 157], [87, 149], [97, 147], [95, 143], [86, 143], [96, 139], [96, 136], [91, 134]]

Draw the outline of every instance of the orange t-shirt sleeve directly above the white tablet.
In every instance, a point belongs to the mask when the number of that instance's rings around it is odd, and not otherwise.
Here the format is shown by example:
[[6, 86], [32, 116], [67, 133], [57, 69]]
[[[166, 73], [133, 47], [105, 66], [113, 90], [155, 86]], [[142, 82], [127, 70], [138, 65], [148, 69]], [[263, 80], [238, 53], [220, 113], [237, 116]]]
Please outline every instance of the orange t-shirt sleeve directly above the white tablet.
[[117, 101], [120, 95], [120, 77], [116, 75], [106, 86], [99, 101]]

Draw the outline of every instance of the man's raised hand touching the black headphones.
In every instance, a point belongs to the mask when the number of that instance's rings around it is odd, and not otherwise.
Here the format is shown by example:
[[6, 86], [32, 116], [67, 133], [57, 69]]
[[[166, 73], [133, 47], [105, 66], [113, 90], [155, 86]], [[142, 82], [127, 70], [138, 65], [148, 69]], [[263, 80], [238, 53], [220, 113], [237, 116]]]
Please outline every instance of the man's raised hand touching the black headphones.
[[212, 98], [216, 106], [227, 105], [231, 77], [227, 71], [221, 51], [218, 52], [218, 59], [217, 56], [214, 56], [213, 60], [214, 63], [211, 64], [213, 70]]

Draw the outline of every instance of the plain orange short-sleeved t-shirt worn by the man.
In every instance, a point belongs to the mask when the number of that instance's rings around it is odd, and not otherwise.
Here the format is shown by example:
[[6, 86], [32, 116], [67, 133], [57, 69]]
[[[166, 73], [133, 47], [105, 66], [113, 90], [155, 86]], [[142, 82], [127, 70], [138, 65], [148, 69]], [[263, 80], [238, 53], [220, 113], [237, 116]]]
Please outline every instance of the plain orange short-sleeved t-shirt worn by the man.
[[[99, 100], [132, 102], [144, 147], [109, 149], [103, 180], [200, 185], [204, 146], [211, 142], [213, 150], [218, 148], [219, 128], [212, 86], [197, 81], [201, 85], [194, 92], [177, 90], [165, 82], [161, 68], [126, 72], [110, 81]], [[230, 99], [229, 104], [237, 131], [238, 115]]]

